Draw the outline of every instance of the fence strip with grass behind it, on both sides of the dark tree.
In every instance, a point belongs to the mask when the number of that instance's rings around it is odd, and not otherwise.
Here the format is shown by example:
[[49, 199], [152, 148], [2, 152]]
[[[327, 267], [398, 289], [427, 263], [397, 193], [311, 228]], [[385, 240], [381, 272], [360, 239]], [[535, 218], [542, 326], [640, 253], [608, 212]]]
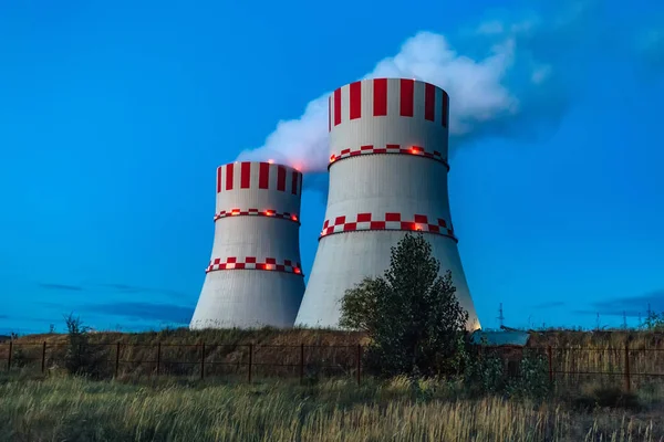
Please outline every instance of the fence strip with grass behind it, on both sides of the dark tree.
[[[81, 355], [84, 351], [85, 355]], [[525, 357], [539, 360], [538, 370], [551, 382], [620, 383], [626, 390], [664, 380], [664, 348], [582, 347], [479, 347], [480, 358], [499, 360], [506, 376], [519, 376]], [[79, 352], [79, 355], [76, 355]], [[85, 372], [95, 377], [186, 376], [234, 377], [353, 377], [362, 380], [361, 345], [219, 345], [185, 344], [86, 344], [81, 350], [69, 344], [0, 344], [0, 360], [7, 371], [65, 368], [79, 358]], [[1, 370], [1, 369], [0, 369]]]

